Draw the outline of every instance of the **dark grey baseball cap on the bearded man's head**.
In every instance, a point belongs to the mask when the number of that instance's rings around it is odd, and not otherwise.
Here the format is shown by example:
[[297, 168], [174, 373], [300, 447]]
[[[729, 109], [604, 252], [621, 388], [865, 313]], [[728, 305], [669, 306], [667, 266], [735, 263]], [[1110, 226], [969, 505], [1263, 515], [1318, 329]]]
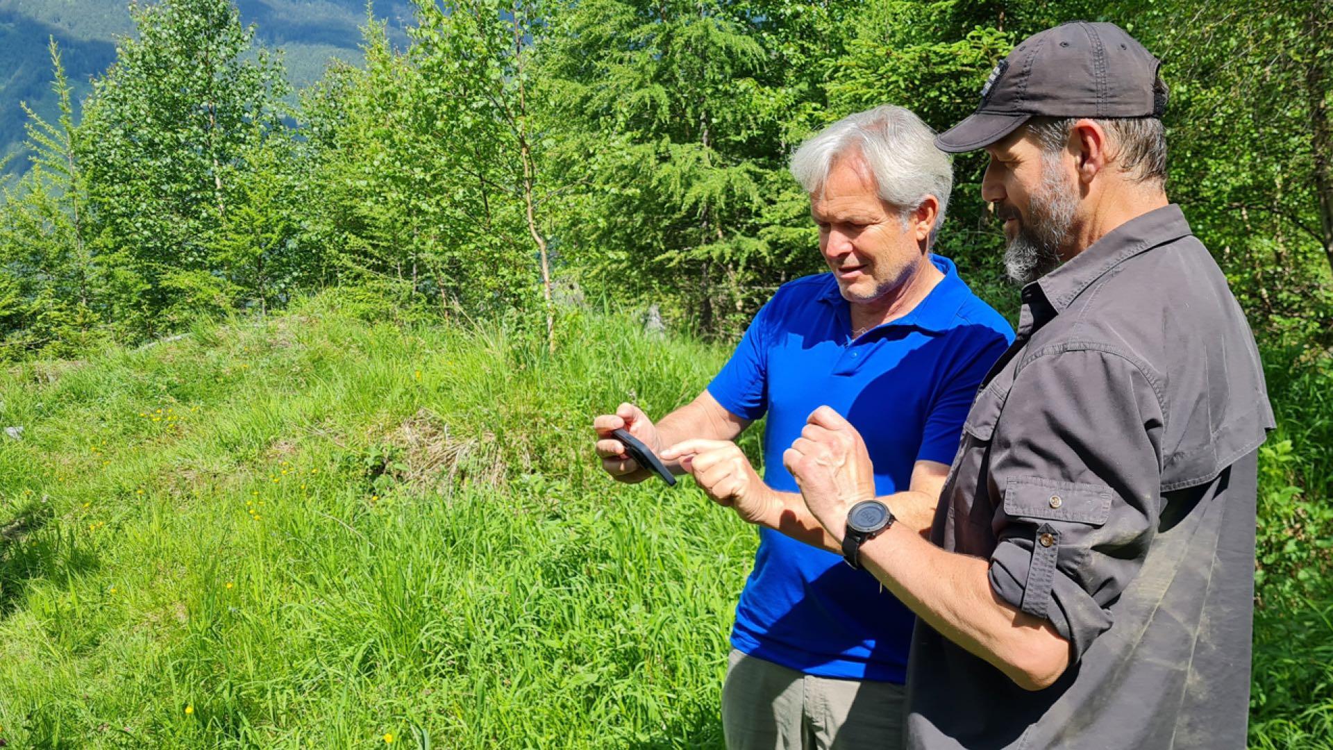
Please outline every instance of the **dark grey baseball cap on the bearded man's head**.
[[990, 71], [981, 104], [934, 139], [941, 151], [976, 151], [1034, 116], [1161, 117], [1153, 81], [1161, 61], [1110, 23], [1069, 21], [1037, 32]]

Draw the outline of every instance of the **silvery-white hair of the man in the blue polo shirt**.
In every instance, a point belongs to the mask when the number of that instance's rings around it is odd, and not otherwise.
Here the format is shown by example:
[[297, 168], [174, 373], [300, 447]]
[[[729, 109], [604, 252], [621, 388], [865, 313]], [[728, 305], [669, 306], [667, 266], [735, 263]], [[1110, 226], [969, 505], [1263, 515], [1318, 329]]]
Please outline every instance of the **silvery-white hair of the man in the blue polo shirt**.
[[921, 117], [893, 104], [848, 115], [796, 149], [792, 176], [805, 192], [818, 192], [833, 163], [848, 153], [860, 153], [880, 198], [898, 208], [904, 222], [908, 212], [933, 195], [940, 202], [933, 230], [940, 228], [953, 190], [953, 165], [934, 147], [934, 131]]

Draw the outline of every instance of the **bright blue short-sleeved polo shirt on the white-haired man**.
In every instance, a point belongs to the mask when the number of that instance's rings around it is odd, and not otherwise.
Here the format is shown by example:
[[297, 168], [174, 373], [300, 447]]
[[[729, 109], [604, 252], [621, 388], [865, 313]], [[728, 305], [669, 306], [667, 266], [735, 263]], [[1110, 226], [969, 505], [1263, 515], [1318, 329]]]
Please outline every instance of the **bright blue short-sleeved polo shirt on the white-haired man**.
[[[832, 274], [784, 284], [708, 386], [749, 420], [768, 415], [764, 480], [797, 492], [782, 452], [812, 411], [833, 407], [865, 438], [880, 495], [906, 490], [917, 460], [952, 463], [968, 408], [1013, 330], [958, 278], [945, 274], [910, 312], [852, 340], [848, 302]], [[732, 645], [820, 677], [904, 682], [914, 617], [869, 573], [760, 528]]]

